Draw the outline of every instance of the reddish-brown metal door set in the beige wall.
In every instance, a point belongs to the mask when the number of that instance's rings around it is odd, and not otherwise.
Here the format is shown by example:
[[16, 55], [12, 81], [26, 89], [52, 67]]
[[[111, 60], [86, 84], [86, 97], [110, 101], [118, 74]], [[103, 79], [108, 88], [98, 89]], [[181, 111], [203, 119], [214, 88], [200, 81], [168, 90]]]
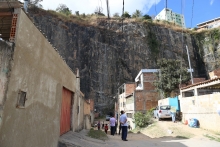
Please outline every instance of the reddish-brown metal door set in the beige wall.
[[72, 92], [66, 88], [63, 88], [61, 120], [60, 120], [60, 135], [70, 131], [71, 104], [72, 104], [71, 98], [72, 98]]

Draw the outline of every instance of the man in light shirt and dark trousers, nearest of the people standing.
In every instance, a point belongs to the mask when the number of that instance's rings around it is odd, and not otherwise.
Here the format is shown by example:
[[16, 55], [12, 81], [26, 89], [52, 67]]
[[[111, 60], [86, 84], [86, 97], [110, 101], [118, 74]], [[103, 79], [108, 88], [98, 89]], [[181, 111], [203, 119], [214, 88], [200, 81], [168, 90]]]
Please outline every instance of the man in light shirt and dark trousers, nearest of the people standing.
[[121, 111], [120, 123], [121, 123], [121, 129], [122, 129], [121, 139], [123, 141], [128, 141], [127, 140], [127, 134], [128, 134], [127, 116], [123, 110]]

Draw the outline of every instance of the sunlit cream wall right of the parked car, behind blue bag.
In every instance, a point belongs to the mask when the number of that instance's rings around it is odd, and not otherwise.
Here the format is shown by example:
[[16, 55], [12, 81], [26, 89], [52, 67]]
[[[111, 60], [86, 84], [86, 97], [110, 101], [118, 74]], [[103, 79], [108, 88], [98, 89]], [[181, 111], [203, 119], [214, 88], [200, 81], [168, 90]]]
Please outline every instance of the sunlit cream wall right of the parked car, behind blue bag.
[[180, 107], [183, 114], [183, 122], [190, 118], [196, 118], [200, 127], [212, 131], [220, 131], [220, 116], [217, 114], [220, 106], [220, 93], [180, 97]]

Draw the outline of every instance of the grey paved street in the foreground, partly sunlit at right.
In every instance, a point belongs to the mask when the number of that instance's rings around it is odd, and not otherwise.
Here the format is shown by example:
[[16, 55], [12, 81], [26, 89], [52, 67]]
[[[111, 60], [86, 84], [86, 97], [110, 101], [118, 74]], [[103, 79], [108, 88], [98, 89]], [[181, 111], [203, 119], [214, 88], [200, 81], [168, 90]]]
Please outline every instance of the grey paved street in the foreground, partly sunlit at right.
[[59, 147], [220, 147], [220, 143], [204, 138], [176, 139], [163, 137], [152, 139], [143, 134], [128, 134], [128, 141], [119, 135], [108, 135], [109, 140], [101, 141], [87, 137], [87, 130], [68, 132], [60, 137]]

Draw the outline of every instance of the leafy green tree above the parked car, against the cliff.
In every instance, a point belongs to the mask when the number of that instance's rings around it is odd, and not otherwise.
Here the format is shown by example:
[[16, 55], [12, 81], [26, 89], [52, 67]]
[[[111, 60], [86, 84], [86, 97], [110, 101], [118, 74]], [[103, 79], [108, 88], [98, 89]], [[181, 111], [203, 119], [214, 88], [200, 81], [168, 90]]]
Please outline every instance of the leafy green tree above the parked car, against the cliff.
[[[159, 73], [154, 82], [157, 90], [161, 90], [165, 97], [170, 96], [170, 93], [179, 88], [179, 84], [187, 84], [190, 80], [187, 68], [180, 67], [180, 60], [175, 59], [159, 59], [157, 60], [159, 66]], [[181, 75], [181, 81], [180, 81]]]

